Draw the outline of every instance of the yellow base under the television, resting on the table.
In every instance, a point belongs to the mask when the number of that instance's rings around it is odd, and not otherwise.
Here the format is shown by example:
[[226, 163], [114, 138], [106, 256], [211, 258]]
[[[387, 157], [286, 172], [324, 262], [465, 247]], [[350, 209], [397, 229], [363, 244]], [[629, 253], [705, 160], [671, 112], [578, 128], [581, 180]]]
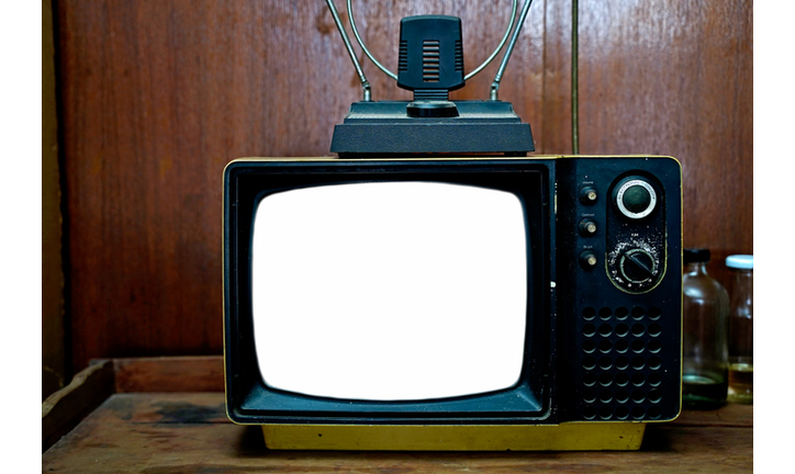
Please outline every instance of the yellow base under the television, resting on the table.
[[646, 422], [560, 425], [262, 425], [273, 450], [631, 451]]

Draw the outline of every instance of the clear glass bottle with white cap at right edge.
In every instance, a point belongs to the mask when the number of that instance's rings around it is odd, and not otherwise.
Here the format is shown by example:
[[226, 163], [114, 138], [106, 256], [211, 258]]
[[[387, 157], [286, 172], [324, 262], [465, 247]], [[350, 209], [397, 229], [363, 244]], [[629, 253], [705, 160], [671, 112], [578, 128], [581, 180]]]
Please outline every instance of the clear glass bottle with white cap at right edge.
[[729, 402], [753, 405], [753, 256], [726, 258], [734, 273], [729, 311]]

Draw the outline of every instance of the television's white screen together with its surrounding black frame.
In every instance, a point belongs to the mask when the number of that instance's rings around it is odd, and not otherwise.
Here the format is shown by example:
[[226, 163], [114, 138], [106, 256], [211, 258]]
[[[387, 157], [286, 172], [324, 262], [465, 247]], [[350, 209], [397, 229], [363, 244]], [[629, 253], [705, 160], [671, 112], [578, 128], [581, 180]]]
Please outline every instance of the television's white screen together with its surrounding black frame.
[[548, 417], [549, 172], [522, 159], [232, 162], [229, 416]]

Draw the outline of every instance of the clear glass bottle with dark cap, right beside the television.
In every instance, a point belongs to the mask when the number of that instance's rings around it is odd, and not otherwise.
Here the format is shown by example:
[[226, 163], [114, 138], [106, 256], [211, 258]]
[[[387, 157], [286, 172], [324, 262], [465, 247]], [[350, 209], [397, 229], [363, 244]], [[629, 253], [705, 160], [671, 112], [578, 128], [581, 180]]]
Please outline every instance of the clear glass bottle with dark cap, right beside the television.
[[708, 249], [684, 249], [682, 276], [682, 400], [684, 408], [715, 409], [726, 403], [729, 294], [707, 274]]

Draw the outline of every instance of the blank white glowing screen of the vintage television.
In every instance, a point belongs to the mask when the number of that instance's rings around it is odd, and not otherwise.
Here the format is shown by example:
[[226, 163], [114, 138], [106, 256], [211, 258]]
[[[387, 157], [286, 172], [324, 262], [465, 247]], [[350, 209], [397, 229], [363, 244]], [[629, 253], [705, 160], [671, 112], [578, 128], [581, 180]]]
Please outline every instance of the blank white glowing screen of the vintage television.
[[503, 191], [390, 182], [265, 198], [251, 275], [265, 383], [373, 400], [514, 385], [525, 247], [522, 204]]

